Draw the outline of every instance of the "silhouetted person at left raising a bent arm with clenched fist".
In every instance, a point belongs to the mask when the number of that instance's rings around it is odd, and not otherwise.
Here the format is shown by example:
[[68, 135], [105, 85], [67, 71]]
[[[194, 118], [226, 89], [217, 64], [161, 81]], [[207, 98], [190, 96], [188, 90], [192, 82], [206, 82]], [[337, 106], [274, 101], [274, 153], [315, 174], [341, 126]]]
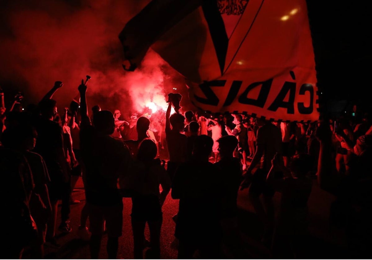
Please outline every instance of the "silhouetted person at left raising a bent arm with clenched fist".
[[33, 150], [45, 160], [50, 177], [48, 190], [52, 205], [52, 217], [48, 222], [46, 245], [51, 247], [60, 247], [55, 240], [58, 200], [62, 200], [61, 224], [58, 230], [64, 233], [69, 233], [72, 230], [69, 221], [71, 186], [63, 148], [63, 131], [60, 124], [53, 121], [57, 115], [57, 102], [51, 99], [62, 86], [61, 81], [56, 81], [52, 89], [39, 103], [41, 117], [35, 122], [38, 137]]

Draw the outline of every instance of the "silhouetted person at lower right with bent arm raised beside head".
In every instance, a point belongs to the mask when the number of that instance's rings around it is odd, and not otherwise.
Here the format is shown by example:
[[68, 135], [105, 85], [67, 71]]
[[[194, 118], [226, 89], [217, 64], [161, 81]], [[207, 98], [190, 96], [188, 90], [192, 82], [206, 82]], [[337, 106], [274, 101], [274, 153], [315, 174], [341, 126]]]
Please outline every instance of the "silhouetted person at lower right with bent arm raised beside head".
[[[301, 259], [310, 248], [307, 247], [308, 200], [312, 188], [312, 158], [298, 154], [285, 167], [280, 155], [275, 155], [267, 182], [281, 193], [280, 208], [275, 224], [271, 250], [274, 258]], [[275, 178], [278, 172], [283, 178]]]

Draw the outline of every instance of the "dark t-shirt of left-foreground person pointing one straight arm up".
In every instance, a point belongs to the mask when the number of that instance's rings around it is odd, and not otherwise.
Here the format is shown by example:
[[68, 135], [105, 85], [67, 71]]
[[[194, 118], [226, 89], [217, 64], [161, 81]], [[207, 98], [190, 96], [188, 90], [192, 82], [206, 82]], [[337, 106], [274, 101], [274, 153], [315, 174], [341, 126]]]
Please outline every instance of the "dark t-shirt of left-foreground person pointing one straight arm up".
[[120, 203], [118, 178], [128, 170], [128, 147], [90, 125], [81, 124], [80, 149], [86, 172], [87, 202], [101, 206]]

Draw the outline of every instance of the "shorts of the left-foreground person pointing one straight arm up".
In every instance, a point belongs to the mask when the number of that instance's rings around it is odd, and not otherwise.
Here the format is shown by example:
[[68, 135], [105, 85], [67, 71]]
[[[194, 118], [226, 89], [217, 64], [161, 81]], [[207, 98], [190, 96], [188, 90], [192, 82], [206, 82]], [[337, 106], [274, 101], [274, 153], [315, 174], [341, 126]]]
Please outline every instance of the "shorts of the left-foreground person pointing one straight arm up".
[[123, 228], [123, 202], [112, 206], [89, 204], [89, 231], [92, 235], [103, 234], [106, 221], [108, 237], [120, 237]]

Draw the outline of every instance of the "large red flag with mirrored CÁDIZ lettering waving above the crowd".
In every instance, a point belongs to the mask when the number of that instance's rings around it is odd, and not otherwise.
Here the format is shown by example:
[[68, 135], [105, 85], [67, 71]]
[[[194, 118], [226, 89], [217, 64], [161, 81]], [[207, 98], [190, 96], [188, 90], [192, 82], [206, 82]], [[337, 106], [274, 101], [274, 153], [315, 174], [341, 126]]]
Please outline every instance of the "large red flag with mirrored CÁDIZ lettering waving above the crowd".
[[119, 39], [126, 70], [152, 48], [185, 77], [202, 110], [319, 118], [305, 0], [152, 0]]

